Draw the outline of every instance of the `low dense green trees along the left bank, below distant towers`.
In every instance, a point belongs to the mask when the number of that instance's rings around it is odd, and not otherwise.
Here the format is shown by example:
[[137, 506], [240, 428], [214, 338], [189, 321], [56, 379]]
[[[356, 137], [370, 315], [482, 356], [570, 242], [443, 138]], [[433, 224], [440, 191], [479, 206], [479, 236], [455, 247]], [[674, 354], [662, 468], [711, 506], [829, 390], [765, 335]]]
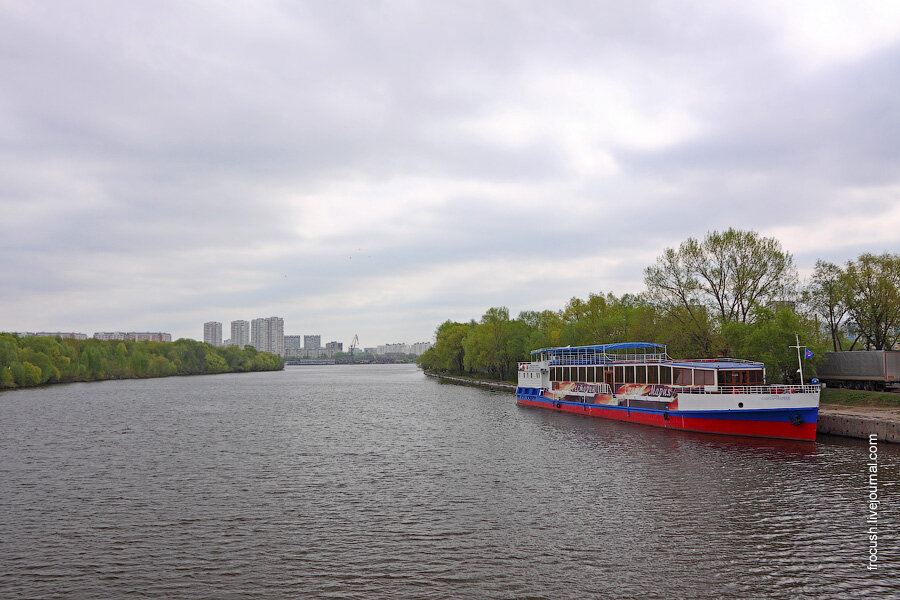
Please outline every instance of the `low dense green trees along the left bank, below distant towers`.
[[284, 360], [252, 346], [72, 340], [0, 334], [0, 390], [54, 383], [280, 371]]

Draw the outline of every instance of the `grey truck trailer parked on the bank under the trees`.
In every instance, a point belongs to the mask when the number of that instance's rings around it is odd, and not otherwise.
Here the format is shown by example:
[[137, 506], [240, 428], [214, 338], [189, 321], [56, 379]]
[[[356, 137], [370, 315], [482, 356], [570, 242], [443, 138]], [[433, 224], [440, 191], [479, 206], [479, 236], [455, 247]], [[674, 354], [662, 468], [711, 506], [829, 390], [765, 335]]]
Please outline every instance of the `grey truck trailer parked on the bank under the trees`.
[[900, 389], [900, 351], [826, 352], [816, 369], [827, 385], [857, 390]]

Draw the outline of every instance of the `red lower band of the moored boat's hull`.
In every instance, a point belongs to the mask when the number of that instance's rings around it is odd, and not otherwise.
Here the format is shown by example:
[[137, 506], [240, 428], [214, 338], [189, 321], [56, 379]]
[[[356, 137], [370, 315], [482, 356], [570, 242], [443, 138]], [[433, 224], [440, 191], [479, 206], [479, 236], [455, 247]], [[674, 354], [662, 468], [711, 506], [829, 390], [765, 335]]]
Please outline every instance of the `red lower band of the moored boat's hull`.
[[616, 421], [628, 421], [630, 423], [642, 423], [644, 425], [653, 425], [654, 427], [664, 427], [666, 429], [678, 429], [681, 431], [699, 431], [703, 433], [722, 433], [727, 435], [778, 438], [785, 440], [814, 441], [816, 439], [816, 423], [794, 425], [793, 423], [783, 421], [699, 419], [695, 417], [682, 417], [673, 413], [669, 413], [669, 418], [666, 419], [660, 413], [599, 408], [598, 405], [590, 404], [560, 404], [560, 406], [557, 407], [555, 404], [534, 402], [531, 400], [519, 399], [517, 402], [521, 406], [534, 406], [536, 408], [555, 410], [557, 412], [568, 412], [576, 415], [600, 417]]

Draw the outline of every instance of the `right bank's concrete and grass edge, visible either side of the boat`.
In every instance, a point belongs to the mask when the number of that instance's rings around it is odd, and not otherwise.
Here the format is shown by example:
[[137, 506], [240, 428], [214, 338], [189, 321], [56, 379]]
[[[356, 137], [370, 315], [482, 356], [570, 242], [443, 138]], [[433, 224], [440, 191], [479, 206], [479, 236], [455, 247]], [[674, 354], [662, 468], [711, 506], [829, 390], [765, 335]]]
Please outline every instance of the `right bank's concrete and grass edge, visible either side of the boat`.
[[[495, 390], [515, 392], [516, 386], [505, 381], [490, 381], [460, 377], [457, 375], [441, 375], [425, 371], [428, 377], [448, 381], [460, 385], [475, 385]], [[852, 390], [823, 390], [823, 401], [819, 405], [819, 424], [817, 432], [827, 435], [839, 435], [868, 440], [875, 434], [878, 441], [900, 443], [900, 406], [874, 406], [871, 404], [844, 405], [836, 399], [844, 397], [842, 393]], [[824, 399], [825, 392], [829, 401]], [[865, 393], [865, 392], [863, 392]], [[857, 402], [866, 400], [854, 397]], [[893, 400], [889, 398], [889, 400]], [[870, 398], [868, 402], [872, 402]]]

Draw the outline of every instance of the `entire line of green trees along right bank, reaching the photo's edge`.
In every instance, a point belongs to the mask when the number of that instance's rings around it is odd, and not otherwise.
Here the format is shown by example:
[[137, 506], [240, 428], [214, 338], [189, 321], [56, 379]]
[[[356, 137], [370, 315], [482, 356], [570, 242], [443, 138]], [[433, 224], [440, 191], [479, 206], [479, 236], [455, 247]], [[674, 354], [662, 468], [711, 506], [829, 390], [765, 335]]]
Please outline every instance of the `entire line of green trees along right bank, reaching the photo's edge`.
[[734, 357], [766, 365], [769, 381], [797, 381], [795, 335], [813, 351], [888, 349], [900, 339], [900, 255], [863, 254], [844, 267], [819, 261], [799, 282], [793, 257], [775, 238], [729, 229], [667, 248], [644, 270], [646, 290], [572, 298], [560, 310], [511, 318], [493, 307], [479, 320], [446, 321], [421, 367], [514, 380], [531, 350], [649, 341], [679, 358]]

